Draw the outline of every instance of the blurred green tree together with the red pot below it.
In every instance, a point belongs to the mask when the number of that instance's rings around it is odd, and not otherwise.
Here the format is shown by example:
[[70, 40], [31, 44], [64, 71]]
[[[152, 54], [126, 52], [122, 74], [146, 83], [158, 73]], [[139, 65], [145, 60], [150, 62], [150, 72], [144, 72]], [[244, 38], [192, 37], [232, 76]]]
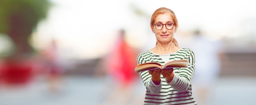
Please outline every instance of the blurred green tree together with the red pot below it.
[[1, 62], [0, 79], [5, 83], [27, 83], [33, 77], [34, 49], [29, 39], [49, 7], [48, 0], [0, 0], [0, 33], [8, 35], [14, 46]]

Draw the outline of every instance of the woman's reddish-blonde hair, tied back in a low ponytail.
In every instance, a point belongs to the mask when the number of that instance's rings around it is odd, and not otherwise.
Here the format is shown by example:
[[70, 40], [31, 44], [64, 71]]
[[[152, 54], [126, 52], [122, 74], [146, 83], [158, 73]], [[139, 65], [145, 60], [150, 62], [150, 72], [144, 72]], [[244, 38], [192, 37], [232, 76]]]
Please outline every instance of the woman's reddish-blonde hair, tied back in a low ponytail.
[[[177, 20], [177, 18], [176, 18], [176, 15], [175, 15], [175, 13], [174, 13], [171, 9], [167, 9], [167, 8], [165, 8], [165, 7], [161, 7], [161, 8], [159, 8], [159, 9], [155, 10], [155, 12], [152, 14], [151, 20], [150, 20], [150, 27], [151, 27], [152, 30], [153, 30], [153, 28], [154, 28], [155, 18], [157, 17], [157, 15], [159, 15], [159, 14], [164, 14], [164, 13], [166, 13], [166, 12], [167, 12], [167, 13], [170, 13], [171, 16], [172, 16], [173, 22], [174, 22], [174, 26], [175, 26], [174, 32], [176, 32], [176, 30], [177, 30], [177, 28], [178, 28], [178, 20]], [[174, 39], [174, 38], [173, 38], [173, 44], [174, 44], [175, 46], [178, 46], [178, 42], [177, 42], [177, 40]]]

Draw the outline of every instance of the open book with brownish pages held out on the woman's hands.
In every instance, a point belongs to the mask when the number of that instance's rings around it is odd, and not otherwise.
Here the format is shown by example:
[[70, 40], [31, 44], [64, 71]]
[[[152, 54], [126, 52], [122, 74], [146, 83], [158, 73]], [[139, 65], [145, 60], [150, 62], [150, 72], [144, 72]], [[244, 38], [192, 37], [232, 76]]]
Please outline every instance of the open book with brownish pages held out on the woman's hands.
[[135, 67], [135, 72], [142, 72], [146, 70], [166, 69], [166, 68], [188, 68], [189, 62], [187, 60], [175, 60], [165, 63], [163, 66], [157, 62], [147, 62], [139, 64]]

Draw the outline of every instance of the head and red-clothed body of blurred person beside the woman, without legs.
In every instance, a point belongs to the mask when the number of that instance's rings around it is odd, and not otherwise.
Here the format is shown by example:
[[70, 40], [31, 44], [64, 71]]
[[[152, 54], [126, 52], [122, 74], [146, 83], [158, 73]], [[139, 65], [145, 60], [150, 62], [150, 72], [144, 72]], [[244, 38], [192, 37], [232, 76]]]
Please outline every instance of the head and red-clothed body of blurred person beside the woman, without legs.
[[115, 81], [124, 85], [129, 84], [135, 77], [134, 67], [137, 65], [134, 60], [137, 55], [135, 49], [129, 46], [125, 41], [125, 31], [119, 32], [114, 49], [108, 56], [107, 72], [114, 78]]

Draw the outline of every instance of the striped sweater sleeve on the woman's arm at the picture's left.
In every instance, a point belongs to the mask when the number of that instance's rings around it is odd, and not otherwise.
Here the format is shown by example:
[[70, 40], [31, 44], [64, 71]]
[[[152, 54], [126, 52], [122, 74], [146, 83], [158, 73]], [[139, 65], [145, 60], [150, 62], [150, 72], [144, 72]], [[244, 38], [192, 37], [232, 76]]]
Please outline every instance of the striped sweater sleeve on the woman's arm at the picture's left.
[[[137, 64], [141, 64], [141, 63], [146, 63], [148, 62], [148, 60], [146, 60], [145, 58], [143, 58], [143, 56], [138, 55], [137, 57]], [[148, 71], [143, 71], [143, 72], [139, 72], [139, 76], [141, 77], [146, 90], [152, 94], [156, 94], [159, 93], [161, 88], [162, 88], [162, 81], [160, 82], [159, 85], [156, 85], [152, 79], [151, 79], [151, 75], [148, 73]]]

